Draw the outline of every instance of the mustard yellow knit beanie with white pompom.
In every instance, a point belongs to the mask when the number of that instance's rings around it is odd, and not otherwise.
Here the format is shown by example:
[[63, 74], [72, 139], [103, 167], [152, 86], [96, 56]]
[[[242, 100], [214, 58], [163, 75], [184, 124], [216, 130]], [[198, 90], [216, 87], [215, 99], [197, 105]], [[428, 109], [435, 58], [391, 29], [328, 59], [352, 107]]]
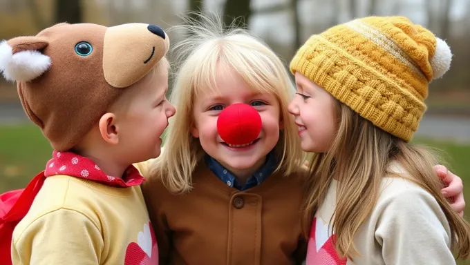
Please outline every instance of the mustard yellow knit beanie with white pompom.
[[375, 126], [410, 141], [449, 46], [406, 17], [366, 17], [313, 35], [290, 63]]

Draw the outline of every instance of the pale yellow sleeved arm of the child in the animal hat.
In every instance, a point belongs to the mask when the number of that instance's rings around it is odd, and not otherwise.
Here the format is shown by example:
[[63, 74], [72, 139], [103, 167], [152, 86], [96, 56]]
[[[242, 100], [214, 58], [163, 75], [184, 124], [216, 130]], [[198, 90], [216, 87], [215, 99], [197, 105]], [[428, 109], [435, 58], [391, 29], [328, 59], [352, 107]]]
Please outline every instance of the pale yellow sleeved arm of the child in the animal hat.
[[12, 263], [99, 264], [103, 239], [97, 225], [75, 210], [42, 215], [13, 233]]

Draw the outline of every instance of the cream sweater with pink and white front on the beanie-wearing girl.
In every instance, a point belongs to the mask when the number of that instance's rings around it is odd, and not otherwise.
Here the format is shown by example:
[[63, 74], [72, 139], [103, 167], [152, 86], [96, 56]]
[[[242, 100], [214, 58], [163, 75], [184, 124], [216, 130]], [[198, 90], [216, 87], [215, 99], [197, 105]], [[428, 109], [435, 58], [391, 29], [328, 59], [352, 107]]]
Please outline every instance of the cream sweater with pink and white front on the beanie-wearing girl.
[[[406, 175], [398, 164], [391, 170]], [[378, 202], [355, 236], [361, 257], [340, 259], [328, 225], [336, 206], [336, 188], [337, 181], [333, 181], [314, 216], [307, 264], [455, 264], [449, 223], [438, 202], [401, 177], [384, 177]]]

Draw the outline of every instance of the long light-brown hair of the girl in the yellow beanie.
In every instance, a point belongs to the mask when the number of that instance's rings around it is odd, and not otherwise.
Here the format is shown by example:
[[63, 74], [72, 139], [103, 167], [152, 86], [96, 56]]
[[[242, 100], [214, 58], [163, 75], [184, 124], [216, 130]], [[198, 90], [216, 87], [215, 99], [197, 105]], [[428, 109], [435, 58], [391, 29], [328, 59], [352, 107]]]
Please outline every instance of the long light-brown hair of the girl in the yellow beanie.
[[[337, 206], [330, 220], [336, 234], [339, 255], [353, 259], [360, 255], [353, 242], [361, 224], [370, 216], [380, 193], [382, 177], [403, 177], [424, 188], [438, 201], [451, 228], [451, 246], [459, 256], [470, 251], [470, 225], [455, 213], [441, 194], [442, 183], [433, 171], [437, 155], [424, 146], [407, 144], [336, 101], [337, 135], [328, 153], [316, 154], [310, 164], [306, 204], [302, 218], [308, 236], [312, 217], [325, 199], [333, 178], [338, 180]], [[388, 172], [392, 161], [408, 175]]]

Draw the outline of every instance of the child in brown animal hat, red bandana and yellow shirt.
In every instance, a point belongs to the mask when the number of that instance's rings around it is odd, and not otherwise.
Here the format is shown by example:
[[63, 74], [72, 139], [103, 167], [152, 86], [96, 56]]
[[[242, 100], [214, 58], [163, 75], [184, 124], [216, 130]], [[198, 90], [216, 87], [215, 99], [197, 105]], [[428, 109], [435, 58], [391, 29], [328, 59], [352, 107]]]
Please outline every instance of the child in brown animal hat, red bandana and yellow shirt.
[[34, 202], [13, 231], [13, 264], [158, 264], [131, 164], [160, 155], [175, 113], [168, 49], [165, 32], [142, 23], [61, 23], [0, 44], [0, 70], [54, 148], [30, 184], [37, 195], [21, 194]]

